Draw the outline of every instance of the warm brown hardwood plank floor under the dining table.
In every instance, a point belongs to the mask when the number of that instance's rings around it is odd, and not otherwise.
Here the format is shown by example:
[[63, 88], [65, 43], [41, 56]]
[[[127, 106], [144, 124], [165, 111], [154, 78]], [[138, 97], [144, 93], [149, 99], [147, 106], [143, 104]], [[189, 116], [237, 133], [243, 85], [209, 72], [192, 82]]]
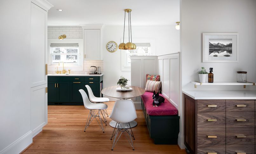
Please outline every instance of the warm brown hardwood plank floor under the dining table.
[[[107, 112], [111, 113], [114, 102], [106, 103]], [[142, 110], [137, 110], [138, 126], [132, 128], [135, 136], [134, 149], [122, 136], [114, 151], [111, 151], [113, 140], [110, 140], [113, 129], [107, 117], [104, 133], [97, 121], [92, 121], [84, 132], [84, 125], [89, 111], [84, 106], [48, 106], [48, 124], [43, 131], [33, 138], [31, 145], [23, 154], [90, 154], [90, 153], [168, 153], [185, 154], [178, 145], [155, 145], [149, 137]], [[159, 131], [161, 127], [159, 127]]]

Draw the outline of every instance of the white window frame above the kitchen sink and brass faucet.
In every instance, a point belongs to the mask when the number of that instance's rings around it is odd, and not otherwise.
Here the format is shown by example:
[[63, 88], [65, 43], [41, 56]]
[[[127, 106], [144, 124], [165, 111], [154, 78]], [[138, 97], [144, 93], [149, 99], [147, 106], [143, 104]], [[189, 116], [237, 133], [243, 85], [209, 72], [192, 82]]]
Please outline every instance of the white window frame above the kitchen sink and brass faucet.
[[71, 71], [84, 71], [84, 42], [83, 39], [48, 39], [48, 71], [56, 71], [56, 67], [58, 63], [52, 64], [52, 54], [51, 54], [51, 43], [78, 43], [78, 65], [73, 63], [64, 63], [64, 67], [66, 70]]

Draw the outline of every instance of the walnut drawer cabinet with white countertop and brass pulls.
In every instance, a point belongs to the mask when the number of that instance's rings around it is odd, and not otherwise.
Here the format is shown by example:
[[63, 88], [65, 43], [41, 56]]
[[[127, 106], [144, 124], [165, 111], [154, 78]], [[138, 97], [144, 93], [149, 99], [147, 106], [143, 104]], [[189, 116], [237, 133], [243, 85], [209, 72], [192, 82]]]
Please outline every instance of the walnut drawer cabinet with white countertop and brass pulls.
[[256, 91], [183, 91], [192, 154], [255, 154]]

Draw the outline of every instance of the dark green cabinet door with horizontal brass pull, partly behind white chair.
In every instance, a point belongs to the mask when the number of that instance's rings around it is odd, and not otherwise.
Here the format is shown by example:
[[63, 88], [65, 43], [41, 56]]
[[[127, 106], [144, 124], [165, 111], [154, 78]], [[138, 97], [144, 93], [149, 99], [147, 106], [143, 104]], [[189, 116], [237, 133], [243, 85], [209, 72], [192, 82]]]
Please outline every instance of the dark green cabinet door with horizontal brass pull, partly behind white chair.
[[84, 89], [84, 81], [71, 81], [71, 95], [70, 95], [70, 102], [81, 102], [83, 105], [83, 98], [79, 89]]

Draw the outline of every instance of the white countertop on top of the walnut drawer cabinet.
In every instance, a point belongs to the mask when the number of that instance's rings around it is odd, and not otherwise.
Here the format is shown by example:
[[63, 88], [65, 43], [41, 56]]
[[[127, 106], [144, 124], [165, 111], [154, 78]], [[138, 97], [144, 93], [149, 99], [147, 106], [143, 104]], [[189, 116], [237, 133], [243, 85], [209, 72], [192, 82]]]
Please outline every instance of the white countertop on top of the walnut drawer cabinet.
[[192, 91], [182, 90], [182, 92], [193, 99], [256, 99], [255, 90], [209, 90]]

